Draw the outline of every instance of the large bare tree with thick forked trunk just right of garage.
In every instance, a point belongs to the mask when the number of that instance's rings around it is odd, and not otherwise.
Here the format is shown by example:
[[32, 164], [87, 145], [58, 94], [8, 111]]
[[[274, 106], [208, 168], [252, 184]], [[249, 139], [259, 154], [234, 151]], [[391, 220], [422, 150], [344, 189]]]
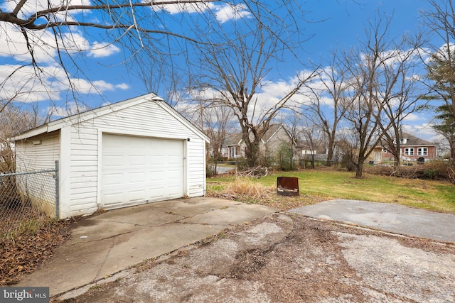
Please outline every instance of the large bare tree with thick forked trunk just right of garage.
[[259, 143], [272, 121], [280, 111], [296, 105], [292, 98], [316, 73], [296, 75], [287, 92], [276, 99], [262, 97], [272, 59], [279, 60], [280, 52], [288, 47], [279, 38], [283, 34], [270, 31], [259, 19], [249, 32], [237, 31], [236, 38], [224, 45], [199, 45], [202, 77], [196, 79], [194, 88], [205, 90], [205, 102], [232, 109], [247, 146], [247, 165], [251, 167], [257, 165]]

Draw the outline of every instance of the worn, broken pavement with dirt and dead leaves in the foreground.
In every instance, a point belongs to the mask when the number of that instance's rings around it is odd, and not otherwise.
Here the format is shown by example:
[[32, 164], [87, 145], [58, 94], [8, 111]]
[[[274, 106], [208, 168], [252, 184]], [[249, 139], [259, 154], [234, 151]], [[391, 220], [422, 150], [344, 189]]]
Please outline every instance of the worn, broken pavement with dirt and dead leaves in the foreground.
[[65, 302], [454, 302], [454, 280], [454, 246], [282, 213]]

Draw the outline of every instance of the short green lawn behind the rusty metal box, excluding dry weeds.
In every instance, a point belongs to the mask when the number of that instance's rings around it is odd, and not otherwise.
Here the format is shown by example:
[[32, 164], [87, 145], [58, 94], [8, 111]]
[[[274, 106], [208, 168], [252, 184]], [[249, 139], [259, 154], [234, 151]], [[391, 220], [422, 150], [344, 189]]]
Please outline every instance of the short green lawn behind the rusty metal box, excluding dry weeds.
[[[276, 187], [277, 177], [298, 177], [301, 196], [323, 199], [356, 199], [371, 202], [395, 203], [455, 213], [455, 185], [449, 182], [404, 179], [366, 175], [356, 179], [352, 172], [334, 170], [301, 170], [279, 172], [252, 182], [264, 187]], [[208, 192], [223, 192], [235, 177], [208, 178]]]

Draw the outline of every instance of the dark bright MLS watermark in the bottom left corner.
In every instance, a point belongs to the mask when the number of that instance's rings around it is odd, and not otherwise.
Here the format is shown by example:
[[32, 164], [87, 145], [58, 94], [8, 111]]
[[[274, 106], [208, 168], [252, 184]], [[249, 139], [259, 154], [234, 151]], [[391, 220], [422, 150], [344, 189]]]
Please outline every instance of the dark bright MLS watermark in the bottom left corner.
[[0, 287], [0, 302], [49, 303], [49, 287]]

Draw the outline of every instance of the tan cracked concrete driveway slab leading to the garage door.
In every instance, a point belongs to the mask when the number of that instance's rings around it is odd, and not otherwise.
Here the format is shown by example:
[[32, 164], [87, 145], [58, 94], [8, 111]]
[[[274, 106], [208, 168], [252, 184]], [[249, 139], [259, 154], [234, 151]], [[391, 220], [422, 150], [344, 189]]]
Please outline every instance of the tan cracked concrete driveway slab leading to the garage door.
[[52, 297], [276, 211], [209, 197], [108, 211], [77, 221], [70, 240], [16, 286], [50, 287]]

